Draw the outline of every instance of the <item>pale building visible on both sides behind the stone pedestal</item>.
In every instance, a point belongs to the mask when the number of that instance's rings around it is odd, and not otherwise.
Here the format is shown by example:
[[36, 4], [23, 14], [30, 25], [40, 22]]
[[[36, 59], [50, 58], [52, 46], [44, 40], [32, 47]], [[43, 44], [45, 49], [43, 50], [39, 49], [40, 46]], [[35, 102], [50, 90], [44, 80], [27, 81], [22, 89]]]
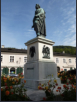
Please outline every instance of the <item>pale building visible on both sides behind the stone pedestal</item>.
[[[57, 64], [58, 71], [76, 68], [76, 55], [66, 53], [53, 53], [54, 62]], [[24, 74], [24, 64], [27, 62], [27, 50], [14, 48], [1, 48], [1, 74], [12, 73]], [[7, 70], [6, 70], [7, 69]]]

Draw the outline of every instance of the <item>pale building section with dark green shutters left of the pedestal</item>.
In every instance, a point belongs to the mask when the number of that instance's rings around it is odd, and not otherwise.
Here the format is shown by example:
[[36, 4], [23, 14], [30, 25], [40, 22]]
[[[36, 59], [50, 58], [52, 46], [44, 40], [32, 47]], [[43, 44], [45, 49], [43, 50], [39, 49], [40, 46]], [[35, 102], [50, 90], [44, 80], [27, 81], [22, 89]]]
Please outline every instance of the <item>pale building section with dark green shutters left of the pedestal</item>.
[[24, 74], [24, 64], [27, 62], [27, 50], [1, 48], [1, 74], [22, 72]]

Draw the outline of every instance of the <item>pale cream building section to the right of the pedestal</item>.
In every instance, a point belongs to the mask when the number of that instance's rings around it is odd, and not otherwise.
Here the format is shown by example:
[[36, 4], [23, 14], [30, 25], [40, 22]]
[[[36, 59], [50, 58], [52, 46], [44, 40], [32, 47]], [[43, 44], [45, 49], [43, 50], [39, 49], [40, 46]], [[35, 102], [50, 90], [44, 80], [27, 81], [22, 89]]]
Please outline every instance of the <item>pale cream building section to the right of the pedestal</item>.
[[76, 69], [76, 55], [54, 52], [54, 62], [60, 71]]

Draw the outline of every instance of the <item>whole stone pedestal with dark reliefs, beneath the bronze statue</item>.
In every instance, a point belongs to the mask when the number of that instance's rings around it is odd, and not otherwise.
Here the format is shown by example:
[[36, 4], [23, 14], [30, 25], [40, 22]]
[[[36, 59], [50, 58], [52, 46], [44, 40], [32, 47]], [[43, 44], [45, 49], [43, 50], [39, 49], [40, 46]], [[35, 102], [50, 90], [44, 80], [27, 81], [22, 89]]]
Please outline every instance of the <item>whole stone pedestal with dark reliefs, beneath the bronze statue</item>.
[[[46, 83], [50, 78], [48, 75], [53, 74], [60, 85], [60, 79], [57, 78], [57, 65], [53, 60], [53, 45], [54, 42], [42, 37], [36, 37], [29, 40], [27, 45], [27, 63], [24, 65], [24, 79], [26, 87], [37, 89], [39, 83]], [[44, 53], [48, 48], [49, 52]], [[45, 50], [44, 50], [45, 49]], [[44, 51], [43, 51], [44, 50]]]

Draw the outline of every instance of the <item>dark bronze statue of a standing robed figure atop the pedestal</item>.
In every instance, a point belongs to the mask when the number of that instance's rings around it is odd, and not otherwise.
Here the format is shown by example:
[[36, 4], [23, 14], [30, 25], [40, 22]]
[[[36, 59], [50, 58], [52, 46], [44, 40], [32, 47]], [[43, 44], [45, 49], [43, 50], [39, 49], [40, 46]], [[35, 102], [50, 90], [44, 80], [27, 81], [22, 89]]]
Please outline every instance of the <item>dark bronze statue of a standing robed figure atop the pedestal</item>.
[[35, 16], [33, 18], [33, 26], [34, 30], [36, 31], [37, 36], [46, 36], [46, 26], [45, 26], [45, 11], [43, 8], [40, 8], [39, 4], [35, 6]]

